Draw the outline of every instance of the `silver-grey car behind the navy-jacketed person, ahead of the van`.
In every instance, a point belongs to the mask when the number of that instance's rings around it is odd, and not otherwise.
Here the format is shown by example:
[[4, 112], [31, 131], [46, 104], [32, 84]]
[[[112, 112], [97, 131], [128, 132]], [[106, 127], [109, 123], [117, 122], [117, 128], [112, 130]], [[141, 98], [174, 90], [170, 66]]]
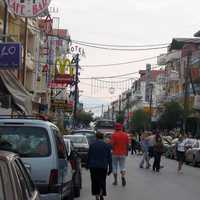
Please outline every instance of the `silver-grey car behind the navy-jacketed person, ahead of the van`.
[[86, 164], [89, 150], [89, 143], [85, 135], [65, 135], [65, 139], [70, 139], [74, 145], [75, 150], [81, 158], [81, 162]]

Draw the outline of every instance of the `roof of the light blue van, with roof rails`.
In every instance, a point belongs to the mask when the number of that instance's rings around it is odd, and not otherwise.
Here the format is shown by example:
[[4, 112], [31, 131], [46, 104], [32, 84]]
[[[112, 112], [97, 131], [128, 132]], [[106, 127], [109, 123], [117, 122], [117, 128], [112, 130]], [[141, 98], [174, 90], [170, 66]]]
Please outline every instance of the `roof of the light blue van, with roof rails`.
[[44, 120], [38, 120], [38, 119], [0, 119], [0, 125], [4, 124], [13, 124], [13, 125], [20, 125], [20, 124], [26, 124], [26, 125], [41, 125], [41, 126], [55, 126], [55, 124], [44, 121]]

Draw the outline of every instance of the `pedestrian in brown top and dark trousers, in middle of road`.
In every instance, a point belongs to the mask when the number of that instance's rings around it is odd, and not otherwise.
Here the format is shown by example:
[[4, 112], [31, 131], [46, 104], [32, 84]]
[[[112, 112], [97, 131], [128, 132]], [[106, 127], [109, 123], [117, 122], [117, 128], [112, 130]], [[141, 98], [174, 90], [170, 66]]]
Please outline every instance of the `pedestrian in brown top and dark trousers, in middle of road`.
[[163, 153], [163, 142], [162, 137], [157, 134], [155, 136], [155, 144], [153, 148], [153, 155], [154, 155], [154, 163], [153, 163], [153, 171], [159, 172], [160, 171], [160, 162], [161, 162], [161, 156]]

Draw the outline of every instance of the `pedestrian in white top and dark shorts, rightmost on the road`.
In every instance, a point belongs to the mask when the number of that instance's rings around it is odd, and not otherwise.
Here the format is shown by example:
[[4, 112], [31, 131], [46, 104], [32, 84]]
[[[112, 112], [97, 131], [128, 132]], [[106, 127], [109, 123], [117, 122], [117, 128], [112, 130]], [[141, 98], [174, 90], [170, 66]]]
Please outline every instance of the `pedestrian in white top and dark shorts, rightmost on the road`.
[[182, 173], [182, 167], [185, 160], [186, 140], [183, 135], [180, 135], [176, 143], [176, 157], [178, 161], [177, 172]]

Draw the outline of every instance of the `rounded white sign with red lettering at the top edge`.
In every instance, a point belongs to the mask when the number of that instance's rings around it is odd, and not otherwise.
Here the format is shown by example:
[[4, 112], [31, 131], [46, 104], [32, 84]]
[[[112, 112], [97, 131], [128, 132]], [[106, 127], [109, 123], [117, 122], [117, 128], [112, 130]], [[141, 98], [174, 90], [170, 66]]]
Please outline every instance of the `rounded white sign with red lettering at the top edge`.
[[8, 10], [21, 17], [37, 17], [48, 9], [51, 0], [6, 0]]

